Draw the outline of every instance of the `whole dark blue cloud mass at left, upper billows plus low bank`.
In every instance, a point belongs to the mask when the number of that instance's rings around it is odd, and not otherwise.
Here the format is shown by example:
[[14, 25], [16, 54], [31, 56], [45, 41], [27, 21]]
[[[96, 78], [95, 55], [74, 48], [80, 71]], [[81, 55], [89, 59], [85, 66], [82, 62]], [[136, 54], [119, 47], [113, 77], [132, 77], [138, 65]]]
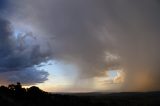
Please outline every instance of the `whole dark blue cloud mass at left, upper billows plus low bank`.
[[10, 22], [0, 17], [1, 83], [34, 84], [47, 80], [48, 73], [36, 69], [35, 65], [47, 61], [49, 54], [35, 42], [32, 33], [13, 35]]

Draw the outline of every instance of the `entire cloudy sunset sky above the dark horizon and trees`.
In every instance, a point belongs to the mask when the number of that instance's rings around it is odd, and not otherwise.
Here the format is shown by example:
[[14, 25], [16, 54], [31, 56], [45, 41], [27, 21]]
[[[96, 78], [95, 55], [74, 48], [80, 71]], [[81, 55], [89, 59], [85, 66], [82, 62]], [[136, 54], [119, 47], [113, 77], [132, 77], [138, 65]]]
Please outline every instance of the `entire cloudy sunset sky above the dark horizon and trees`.
[[160, 90], [158, 0], [1, 0], [0, 84]]

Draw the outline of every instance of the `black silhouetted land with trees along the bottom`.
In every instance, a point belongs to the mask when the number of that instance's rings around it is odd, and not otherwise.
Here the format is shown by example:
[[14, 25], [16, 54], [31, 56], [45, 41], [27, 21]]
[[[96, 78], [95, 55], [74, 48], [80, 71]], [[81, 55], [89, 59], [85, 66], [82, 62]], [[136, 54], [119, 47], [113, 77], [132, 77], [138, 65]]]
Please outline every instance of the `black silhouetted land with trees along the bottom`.
[[0, 87], [0, 106], [160, 106], [160, 92], [51, 94], [20, 83]]

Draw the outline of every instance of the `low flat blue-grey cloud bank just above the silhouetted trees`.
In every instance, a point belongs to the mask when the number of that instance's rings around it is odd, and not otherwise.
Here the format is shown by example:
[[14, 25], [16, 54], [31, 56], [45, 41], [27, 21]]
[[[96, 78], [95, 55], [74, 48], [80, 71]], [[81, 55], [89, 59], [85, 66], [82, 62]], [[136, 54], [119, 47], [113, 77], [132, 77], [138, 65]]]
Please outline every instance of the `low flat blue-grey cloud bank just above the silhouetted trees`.
[[47, 80], [48, 73], [44, 70], [37, 70], [36, 68], [25, 68], [13, 72], [5, 72], [0, 74], [1, 84], [11, 84], [21, 82], [25, 85], [32, 85], [35, 83], [43, 83]]

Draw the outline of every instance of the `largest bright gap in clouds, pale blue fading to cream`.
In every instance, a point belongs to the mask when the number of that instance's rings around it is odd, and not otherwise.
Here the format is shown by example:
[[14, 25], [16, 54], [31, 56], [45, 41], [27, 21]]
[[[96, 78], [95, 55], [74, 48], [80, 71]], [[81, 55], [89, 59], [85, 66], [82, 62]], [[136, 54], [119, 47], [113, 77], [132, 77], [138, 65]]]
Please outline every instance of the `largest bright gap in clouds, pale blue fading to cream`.
[[36, 85], [49, 92], [65, 92], [77, 77], [76, 67], [59, 61], [50, 60], [36, 67], [49, 73], [47, 81]]

